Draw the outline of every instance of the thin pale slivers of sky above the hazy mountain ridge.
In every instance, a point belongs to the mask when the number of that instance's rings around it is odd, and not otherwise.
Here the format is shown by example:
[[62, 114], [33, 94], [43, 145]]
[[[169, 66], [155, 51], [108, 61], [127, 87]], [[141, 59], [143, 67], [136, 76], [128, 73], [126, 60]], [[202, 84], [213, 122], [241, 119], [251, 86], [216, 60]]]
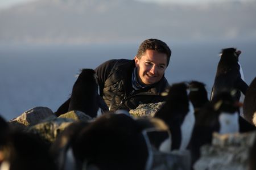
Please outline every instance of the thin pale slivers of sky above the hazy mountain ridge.
[[[0, 0], [0, 7], [9, 7], [15, 5], [17, 3], [23, 3], [28, 1], [36, 1], [36, 0]], [[216, 2], [216, 1], [230, 1], [230, 0], [136, 0], [136, 1], [144, 1], [144, 2], [179, 2], [179, 3], [198, 3], [198, 2]], [[240, 0], [240, 1], [248, 1], [248, 0]]]

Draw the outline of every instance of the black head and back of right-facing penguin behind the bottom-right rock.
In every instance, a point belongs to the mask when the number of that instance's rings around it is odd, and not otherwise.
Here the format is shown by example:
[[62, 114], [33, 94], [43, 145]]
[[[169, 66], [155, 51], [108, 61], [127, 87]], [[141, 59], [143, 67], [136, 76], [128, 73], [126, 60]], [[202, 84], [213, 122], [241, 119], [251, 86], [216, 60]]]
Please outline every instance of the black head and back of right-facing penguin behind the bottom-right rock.
[[212, 101], [205, 104], [200, 111], [195, 114], [196, 122], [188, 146], [191, 151], [192, 164], [200, 158], [200, 147], [212, 142], [213, 132], [220, 132], [220, 114], [222, 112], [233, 114], [237, 109], [238, 107], [235, 105], [233, 96], [229, 91], [226, 91], [214, 96]]

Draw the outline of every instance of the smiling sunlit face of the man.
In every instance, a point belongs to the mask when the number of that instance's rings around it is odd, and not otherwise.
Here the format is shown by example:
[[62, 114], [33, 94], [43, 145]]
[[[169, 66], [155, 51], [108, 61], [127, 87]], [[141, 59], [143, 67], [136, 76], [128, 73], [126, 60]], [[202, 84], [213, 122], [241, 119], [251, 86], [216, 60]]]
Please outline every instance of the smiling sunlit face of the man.
[[167, 55], [155, 50], [146, 50], [139, 59], [134, 57], [139, 79], [144, 84], [154, 84], [163, 77], [167, 67]]

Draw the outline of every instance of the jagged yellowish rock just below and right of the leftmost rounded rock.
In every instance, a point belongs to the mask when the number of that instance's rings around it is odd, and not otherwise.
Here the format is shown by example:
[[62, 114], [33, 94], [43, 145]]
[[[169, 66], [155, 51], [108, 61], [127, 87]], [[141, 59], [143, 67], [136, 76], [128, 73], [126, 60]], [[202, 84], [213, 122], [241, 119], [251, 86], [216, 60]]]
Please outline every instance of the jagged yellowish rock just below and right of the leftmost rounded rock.
[[44, 122], [30, 126], [27, 131], [38, 134], [46, 143], [52, 143], [57, 135], [73, 122], [75, 120], [71, 118], [49, 117]]

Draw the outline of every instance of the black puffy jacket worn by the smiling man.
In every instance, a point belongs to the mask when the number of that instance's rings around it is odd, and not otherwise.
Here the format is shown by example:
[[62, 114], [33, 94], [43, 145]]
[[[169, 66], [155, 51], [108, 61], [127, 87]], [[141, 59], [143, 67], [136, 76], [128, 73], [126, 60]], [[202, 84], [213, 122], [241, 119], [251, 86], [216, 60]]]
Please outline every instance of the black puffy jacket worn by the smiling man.
[[158, 103], [166, 101], [160, 96], [169, 86], [166, 78], [154, 86], [136, 91], [131, 86], [131, 75], [135, 61], [129, 59], [111, 59], [98, 66], [95, 71], [103, 97], [110, 111], [117, 109], [135, 109], [142, 103]]

